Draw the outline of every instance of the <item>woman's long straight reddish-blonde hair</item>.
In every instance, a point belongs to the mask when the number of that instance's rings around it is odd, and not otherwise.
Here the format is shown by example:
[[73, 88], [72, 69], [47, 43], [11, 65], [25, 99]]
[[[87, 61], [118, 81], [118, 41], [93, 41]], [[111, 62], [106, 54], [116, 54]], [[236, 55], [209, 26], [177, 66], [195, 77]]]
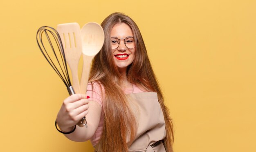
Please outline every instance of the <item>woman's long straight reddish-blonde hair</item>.
[[[119, 86], [121, 74], [115, 66], [112, 55], [110, 32], [117, 23], [125, 23], [134, 34], [136, 51], [135, 59], [127, 68], [127, 78], [132, 84], [144, 90], [156, 92], [159, 104], [164, 113], [166, 123], [166, 137], [163, 139], [167, 152], [173, 152], [173, 125], [169, 117], [168, 108], [164, 105], [164, 98], [159, 84], [148, 59], [146, 46], [136, 23], [123, 13], [112, 13], [101, 26], [105, 33], [105, 43], [101, 51], [94, 57], [90, 72], [90, 82], [99, 82], [104, 87], [103, 102], [104, 125], [100, 143], [103, 152], [128, 152], [128, 146], [134, 141], [136, 134], [136, 119], [132, 114], [124, 92]], [[126, 143], [127, 132], [130, 141]]]

